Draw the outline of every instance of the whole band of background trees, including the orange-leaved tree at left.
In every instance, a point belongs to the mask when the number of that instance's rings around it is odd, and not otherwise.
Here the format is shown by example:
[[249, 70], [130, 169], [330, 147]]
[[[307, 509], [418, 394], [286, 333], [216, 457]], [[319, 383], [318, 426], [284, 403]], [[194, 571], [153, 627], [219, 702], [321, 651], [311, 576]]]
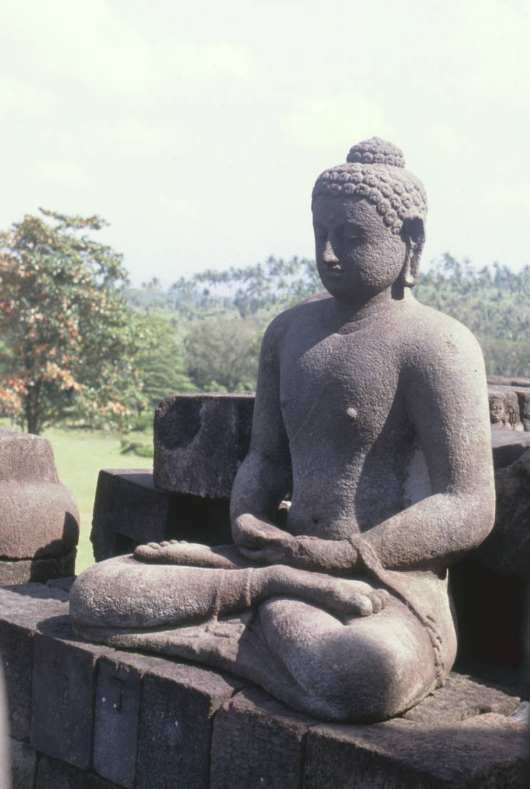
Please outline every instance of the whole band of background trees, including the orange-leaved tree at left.
[[[28, 432], [128, 432], [168, 394], [253, 390], [267, 324], [322, 290], [297, 257], [132, 289], [121, 255], [92, 237], [104, 225], [40, 209], [0, 232], [0, 416]], [[487, 372], [530, 377], [530, 267], [476, 271], [446, 254], [416, 296], [476, 334]]]

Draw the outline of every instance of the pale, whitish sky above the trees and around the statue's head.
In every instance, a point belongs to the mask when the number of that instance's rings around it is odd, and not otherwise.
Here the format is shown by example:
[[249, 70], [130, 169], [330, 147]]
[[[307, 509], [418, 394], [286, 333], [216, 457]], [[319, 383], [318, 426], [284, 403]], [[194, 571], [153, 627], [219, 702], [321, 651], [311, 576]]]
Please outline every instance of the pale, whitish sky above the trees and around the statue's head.
[[530, 263], [526, 0], [3, 0], [0, 229], [98, 213], [133, 282], [314, 256], [316, 176], [372, 135], [424, 267]]

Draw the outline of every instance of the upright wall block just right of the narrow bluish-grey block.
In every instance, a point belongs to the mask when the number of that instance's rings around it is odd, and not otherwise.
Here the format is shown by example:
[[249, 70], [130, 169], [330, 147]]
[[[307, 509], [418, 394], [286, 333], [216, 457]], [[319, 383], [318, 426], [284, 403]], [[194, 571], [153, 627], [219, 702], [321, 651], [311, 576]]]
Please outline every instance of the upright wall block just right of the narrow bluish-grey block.
[[217, 671], [153, 659], [142, 680], [136, 789], [207, 789], [212, 717], [242, 686]]

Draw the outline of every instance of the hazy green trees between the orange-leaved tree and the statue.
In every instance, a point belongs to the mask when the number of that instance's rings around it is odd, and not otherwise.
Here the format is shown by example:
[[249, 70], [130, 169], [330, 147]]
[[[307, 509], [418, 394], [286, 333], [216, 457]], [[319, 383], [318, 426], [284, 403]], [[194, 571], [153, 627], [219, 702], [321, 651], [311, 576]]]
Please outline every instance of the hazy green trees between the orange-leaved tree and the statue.
[[134, 308], [162, 321], [155, 330], [159, 342], [139, 359], [147, 402], [154, 406], [175, 391], [254, 389], [267, 323], [319, 290], [312, 261], [272, 256], [254, 266], [181, 277], [166, 292], [155, 278], [126, 290]]

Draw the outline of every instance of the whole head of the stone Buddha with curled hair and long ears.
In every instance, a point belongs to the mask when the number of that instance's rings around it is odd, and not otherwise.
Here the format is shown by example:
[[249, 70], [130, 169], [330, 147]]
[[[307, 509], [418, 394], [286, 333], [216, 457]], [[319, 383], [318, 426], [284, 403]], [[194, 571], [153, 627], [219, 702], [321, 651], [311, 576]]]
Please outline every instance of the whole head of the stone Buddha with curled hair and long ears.
[[312, 194], [316, 263], [332, 296], [362, 304], [416, 284], [427, 196], [403, 154], [379, 137], [325, 170]]

